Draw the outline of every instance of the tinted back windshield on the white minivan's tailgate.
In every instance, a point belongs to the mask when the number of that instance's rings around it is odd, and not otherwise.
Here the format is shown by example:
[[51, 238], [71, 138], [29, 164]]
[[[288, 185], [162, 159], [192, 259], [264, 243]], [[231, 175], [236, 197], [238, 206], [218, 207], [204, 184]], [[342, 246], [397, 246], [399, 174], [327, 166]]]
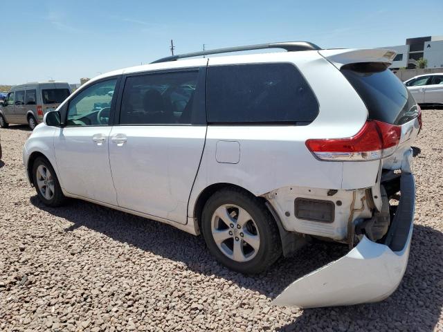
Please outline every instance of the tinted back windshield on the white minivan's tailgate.
[[404, 124], [418, 116], [413, 96], [386, 64], [347, 64], [341, 72], [368, 107], [370, 120]]

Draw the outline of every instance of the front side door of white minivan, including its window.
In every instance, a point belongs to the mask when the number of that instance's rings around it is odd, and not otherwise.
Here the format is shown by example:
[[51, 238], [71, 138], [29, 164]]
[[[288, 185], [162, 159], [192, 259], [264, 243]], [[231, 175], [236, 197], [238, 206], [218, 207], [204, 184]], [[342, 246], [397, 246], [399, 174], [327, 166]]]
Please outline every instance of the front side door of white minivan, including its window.
[[109, 167], [109, 117], [114, 109], [117, 79], [82, 89], [67, 107], [66, 127], [54, 137], [55, 158], [62, 187], [102, 203], [117, 205]]

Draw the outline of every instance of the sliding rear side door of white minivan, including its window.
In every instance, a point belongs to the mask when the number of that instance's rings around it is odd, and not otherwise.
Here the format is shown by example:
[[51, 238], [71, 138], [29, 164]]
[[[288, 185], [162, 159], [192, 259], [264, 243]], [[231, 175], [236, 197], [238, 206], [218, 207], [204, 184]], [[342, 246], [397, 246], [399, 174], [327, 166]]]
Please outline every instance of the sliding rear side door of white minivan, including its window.
[[109, 136], [118, 205], [184, 224], [206, 136], [206, 67], [124, 80]]

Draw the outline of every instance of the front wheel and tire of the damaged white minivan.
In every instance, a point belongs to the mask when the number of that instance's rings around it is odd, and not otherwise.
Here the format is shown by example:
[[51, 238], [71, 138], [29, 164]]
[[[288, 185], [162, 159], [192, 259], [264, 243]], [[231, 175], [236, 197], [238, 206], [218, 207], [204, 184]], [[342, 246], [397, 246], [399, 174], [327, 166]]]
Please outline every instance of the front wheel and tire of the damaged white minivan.
[[37, 196], [39, 196], [40, 201], [44, 205], [55, 208], [62, 205], [66, 200], [57, 174], [55, 174], [51, 163], [46, 158], [37, 157], [35, 159], [33, 164], [33, 183]]

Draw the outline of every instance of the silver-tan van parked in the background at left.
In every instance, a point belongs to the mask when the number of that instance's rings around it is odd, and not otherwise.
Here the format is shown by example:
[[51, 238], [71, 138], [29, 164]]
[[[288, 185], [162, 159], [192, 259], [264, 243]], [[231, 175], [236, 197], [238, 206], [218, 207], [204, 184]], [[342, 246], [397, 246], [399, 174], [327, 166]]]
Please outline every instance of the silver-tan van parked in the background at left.
[[33, 82], [12, 86], [3, 107], [0, 107], [0, 127], [10, 123], [29, 124], [34, 129], [48, 111], [55, 110], [71, 95], [66, 82]]

